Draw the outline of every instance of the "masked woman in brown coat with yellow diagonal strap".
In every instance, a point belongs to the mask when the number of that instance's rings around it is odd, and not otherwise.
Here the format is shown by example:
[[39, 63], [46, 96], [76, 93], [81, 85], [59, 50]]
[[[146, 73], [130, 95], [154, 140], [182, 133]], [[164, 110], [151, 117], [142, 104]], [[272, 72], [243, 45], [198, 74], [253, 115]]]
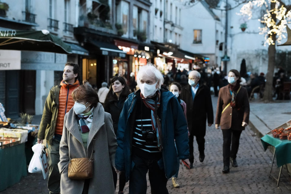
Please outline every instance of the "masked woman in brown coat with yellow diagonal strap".
[[223, 173], [229, 172], [230, 162], [233, 167], [237, 167], [239, 137], [249, 122], [248, 93], [239, 85], [240, 75], [237, 70], [229, 71], [228, 82], [219, 90], [215, 119], [215, 127], [219, 129], [220, 125], [223, 135]]

